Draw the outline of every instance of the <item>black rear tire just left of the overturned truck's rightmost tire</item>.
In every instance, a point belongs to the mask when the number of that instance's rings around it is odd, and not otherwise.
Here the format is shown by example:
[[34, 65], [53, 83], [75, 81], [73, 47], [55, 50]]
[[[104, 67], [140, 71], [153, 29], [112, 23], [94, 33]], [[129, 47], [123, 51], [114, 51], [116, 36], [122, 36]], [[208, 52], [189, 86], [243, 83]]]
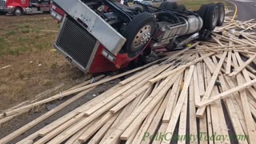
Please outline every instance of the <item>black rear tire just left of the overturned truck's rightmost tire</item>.
[[219, 10], [216, 4], [207, 6], [205, 18], [203, 18], [203, 25], [207, 30], [214, 30], [217, 26], [219, 18]]

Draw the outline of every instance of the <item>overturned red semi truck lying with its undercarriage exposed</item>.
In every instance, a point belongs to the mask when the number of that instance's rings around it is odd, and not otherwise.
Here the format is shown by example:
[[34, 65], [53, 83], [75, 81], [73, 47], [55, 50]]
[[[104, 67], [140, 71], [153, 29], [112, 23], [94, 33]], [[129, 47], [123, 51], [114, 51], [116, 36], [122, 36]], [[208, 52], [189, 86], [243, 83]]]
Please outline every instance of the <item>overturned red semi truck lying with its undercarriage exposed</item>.
[[207, 38], [225, 18], [223, 3], [186, 10], [176, 2], [159, 7], [110, 0], [54, 0], [52, 16], [61, 22], [54, 47], [85, 73], [125, 68], [133, 61], [150, 62], [159, 49], [182, 48]]

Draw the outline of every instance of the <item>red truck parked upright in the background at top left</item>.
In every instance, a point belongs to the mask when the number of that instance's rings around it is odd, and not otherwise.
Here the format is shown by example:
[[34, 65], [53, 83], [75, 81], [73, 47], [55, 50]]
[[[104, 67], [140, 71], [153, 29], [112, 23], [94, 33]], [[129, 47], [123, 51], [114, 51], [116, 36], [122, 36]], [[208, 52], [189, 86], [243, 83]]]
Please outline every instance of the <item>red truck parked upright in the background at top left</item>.
[[0, 13], [15, 16], [50, 11], [50, 0], [0, 0]]

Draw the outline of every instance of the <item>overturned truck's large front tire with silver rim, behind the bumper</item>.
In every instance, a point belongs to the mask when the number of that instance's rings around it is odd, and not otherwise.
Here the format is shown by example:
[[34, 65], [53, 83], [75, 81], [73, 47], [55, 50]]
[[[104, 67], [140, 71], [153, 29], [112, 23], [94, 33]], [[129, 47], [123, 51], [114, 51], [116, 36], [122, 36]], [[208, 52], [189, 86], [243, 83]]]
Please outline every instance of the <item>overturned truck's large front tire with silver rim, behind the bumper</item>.
[[124, 50], [130, 58], [141, 53], [154, 33], [155, 18], [153, 14], [144, 12], [138, 14], [126, 26], [123, 36], [126, 38]]

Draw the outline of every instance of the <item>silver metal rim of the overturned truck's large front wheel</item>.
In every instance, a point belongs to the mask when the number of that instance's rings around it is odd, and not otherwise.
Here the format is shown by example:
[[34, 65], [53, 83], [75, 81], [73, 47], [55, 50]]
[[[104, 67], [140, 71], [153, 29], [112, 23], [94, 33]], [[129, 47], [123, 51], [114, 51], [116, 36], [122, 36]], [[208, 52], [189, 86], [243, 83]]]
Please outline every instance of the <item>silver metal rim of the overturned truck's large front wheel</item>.
[[138, 34], [136, 34], [134, 41], [133, 41], [133, 47], [135, 50], [137, 50], [140, 46], [146, 44], [150, 40], [151, 36], [151, 26], [146, 25], [143, 26], [141, 30], [138, 31]]

